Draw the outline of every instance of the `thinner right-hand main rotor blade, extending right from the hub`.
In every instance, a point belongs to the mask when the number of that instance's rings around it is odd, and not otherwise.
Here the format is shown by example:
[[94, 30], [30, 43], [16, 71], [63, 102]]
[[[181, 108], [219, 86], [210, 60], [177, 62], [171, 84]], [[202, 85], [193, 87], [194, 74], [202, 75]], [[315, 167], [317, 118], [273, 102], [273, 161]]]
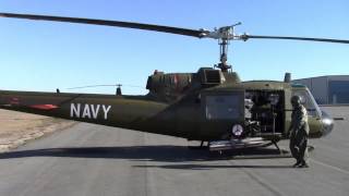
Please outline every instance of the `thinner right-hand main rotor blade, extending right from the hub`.
[[349, 44], [346, 39], [327, 39], [327, 38], [313, 38], [313, 37], [282, 37], [282, 36], [255, 36], [255, 35], [241, 35], [241, 39], [248, 40], [250, 38], [257, 39], [290, 39], [290, 40], [306, 40], [306, 41], [322, 41], [322, 42], [338, 42]]

